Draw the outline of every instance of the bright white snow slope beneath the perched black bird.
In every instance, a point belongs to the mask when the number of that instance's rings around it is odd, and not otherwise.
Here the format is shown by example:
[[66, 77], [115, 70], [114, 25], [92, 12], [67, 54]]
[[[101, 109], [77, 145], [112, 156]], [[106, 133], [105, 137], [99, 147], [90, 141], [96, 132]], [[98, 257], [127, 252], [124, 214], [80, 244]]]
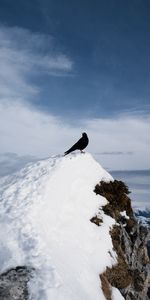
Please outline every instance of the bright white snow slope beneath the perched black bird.
[[[93, 192], [100, 180], [113, 179], [90, 154], [49, 158], [0, 180], [0, 269], [33, 266], [31, 299], [105, 299], [99, 274], [116, 263], [115, 221]], [[99, 227], [90, 222], [97, 213]]]

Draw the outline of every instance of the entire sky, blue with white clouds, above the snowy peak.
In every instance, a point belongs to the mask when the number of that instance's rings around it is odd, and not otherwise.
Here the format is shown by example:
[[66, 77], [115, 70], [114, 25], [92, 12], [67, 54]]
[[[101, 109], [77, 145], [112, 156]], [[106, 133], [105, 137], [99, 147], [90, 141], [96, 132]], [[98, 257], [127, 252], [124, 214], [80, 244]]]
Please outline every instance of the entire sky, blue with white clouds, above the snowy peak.
[[149, 170], [150, 2], [0, 1], [0, 163], [62, 154], [86, 131], [108, 170]]

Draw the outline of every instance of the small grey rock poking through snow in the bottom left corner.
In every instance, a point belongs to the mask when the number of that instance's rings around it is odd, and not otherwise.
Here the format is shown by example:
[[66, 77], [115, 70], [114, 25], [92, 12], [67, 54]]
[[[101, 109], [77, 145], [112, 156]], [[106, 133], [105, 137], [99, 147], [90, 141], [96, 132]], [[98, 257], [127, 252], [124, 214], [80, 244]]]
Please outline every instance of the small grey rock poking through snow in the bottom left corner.
[[0, 275], [0, 300], [27, 300], [32, 269], [16, 267]]

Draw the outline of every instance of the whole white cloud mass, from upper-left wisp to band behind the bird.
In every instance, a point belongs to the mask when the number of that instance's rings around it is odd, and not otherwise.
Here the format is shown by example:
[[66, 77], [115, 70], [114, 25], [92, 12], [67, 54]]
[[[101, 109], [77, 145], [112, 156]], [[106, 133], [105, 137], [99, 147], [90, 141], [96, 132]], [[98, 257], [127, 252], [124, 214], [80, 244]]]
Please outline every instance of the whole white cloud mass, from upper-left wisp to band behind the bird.
[[61, 154], [81, 132], [87, 131], [88, 149], [104, 167], [150, 168], [149, 116], [139, 118], [126, 113], [116, 119], [77, 120], [73, 126], [29, 104], [30, 98], [36, 98], [39, 92], [29, 82], [32, 74], [39, 70], [52, 75], [67, 74], [73, 67], [72, 61], [55, 49], [51, 37], [0, 27], [0, 61], [0, 154]]

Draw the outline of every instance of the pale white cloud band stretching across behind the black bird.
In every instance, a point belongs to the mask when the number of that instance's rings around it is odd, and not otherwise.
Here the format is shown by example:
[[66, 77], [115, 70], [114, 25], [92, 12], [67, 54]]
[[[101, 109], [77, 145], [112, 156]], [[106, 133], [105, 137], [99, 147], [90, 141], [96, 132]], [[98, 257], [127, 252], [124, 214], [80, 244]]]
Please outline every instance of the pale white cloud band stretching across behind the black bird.
[[[0, 104], [0, 153], [47, 157], [63, 154], [87, 131], [90, 151], [109, 169], [148, 169], [150, 119], [119, 117], [118, 119], [85, 120], [79, 126], [33, 106], [19, 102]], [[114, 155], [116, 151], [132, 155]], [[99, 155], [105, 153], [106, 155]], [[109, 155], [110, 152], [110, 155]]]

